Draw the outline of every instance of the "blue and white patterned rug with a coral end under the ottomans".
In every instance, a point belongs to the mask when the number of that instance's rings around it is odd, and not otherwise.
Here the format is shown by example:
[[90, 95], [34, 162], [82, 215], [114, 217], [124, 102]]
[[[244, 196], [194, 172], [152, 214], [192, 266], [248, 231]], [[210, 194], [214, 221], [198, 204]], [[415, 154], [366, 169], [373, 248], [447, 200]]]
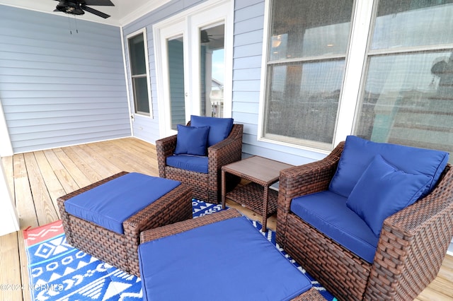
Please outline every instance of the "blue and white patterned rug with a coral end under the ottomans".
[[[214, 205], [193, 199], [193, 217], [222, 210]], [[261, 224], [251, 220], [261, 229]], [[263, 233], [263, 232], [261, 232]], [[263, 233], [275, 243], [275, 232]], [[67, 244], [61, 220], [24, 231], [28, 257], [28, 275], [32, 300], [142, 300], [140, 278], [125, 273]], [[305, 273], [278, 245], [282, 254]], [[202, 258], [200, 258], [202, 261]], [[317, 281], [305, 273], [326, 300], [335, 300]]]

